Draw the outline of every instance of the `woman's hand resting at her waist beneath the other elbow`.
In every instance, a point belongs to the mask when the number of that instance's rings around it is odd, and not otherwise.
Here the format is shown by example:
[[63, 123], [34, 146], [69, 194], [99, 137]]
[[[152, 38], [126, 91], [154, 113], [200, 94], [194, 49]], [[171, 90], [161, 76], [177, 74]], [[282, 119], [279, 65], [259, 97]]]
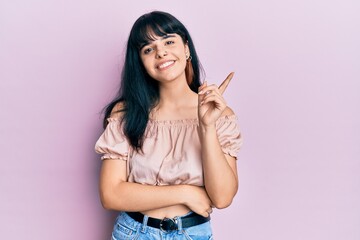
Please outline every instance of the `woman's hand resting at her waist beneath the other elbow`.
[[212, 202], [204, 187], [197, 187], [192, 185], [184, 185], [186, 192], [184, 194], [185, 205], [191, 211], [208, 217], [212, 213]]

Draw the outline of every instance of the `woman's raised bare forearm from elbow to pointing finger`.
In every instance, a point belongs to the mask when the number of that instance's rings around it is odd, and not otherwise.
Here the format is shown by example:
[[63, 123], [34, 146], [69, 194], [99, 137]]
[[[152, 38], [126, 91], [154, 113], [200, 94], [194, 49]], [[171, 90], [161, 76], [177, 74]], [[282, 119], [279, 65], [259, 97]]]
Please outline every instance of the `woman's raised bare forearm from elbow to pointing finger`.
[[199, 92], [199, 137], [206, 191], [216, 208], [229, 206], [238, 189], [236, 159], [223, 153], [215, 122], [220, 116], [232, 115], [222, 93], [233, 74], [218, 88], [205, 83]]

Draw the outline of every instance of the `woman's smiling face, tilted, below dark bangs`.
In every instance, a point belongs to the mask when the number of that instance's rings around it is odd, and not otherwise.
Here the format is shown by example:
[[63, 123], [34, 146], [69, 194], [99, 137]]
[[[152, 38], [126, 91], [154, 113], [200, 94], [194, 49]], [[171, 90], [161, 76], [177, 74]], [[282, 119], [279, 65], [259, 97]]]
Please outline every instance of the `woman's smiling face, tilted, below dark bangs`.
[[189, 47], [178, 34], [155, 36], [140, 49], [140, 58], [147, 73], [159, 82], [184, 79]]

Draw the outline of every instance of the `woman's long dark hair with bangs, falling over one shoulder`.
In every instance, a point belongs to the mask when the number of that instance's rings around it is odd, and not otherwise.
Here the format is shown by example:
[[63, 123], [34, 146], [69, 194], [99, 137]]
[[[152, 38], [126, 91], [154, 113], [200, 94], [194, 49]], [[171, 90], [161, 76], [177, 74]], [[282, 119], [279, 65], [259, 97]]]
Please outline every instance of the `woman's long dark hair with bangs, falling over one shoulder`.
[[[114, 107], [121, 102], [124, 121], [124, 134], [135, 150], [141, 150], [144, 132], [149, 121], [150, 111], [159, 101], [158, 82], [151, 78], [140, 59], [140, 49], [153, 41], [155, 36], [176, 33], [187, 43], [191, 54], [185, 68], [187, 82], [192, 91], [198, 91], [201, 64], [194, 43], [185, 26], [166, 12], [153, 11], [139, 17], [134, 23], [127, 42], [125, 63], [121, 75], [121, 85], [116, 98], [105, 109], [104, 127]], [[155, 35], [155, 36], [154, 36]]]

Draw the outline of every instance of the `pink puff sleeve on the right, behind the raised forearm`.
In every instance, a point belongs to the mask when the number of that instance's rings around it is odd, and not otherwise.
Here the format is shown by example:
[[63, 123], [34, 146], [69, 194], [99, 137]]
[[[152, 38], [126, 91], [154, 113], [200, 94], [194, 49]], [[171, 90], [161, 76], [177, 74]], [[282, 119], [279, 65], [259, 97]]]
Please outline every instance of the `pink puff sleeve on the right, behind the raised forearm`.
[[242, 145], [242, 137], [236, 115], [219, 118], [216, 122], [216, 131], [222, 151], [237, 158]]

